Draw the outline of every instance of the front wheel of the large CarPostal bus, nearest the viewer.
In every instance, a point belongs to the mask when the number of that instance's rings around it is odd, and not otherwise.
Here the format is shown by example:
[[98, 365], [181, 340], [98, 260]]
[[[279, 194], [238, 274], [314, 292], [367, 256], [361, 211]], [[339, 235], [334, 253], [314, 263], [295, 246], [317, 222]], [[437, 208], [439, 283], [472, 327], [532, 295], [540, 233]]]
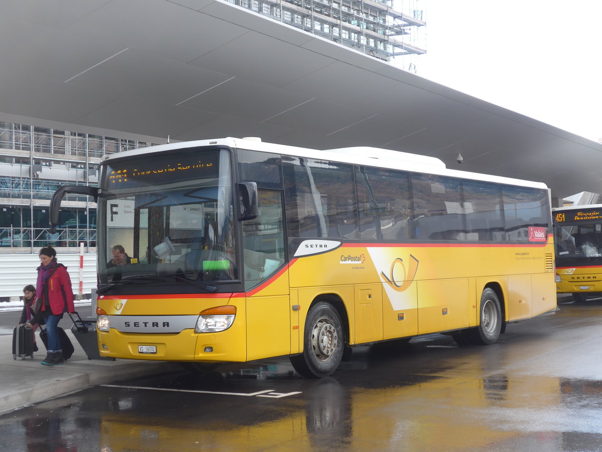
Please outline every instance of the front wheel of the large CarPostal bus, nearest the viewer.
[[327, 377], [337, 370], [344, 348], [341, 317], [332, 304], [320, 302], [309, 309], [303, 333], [303, 353], [291, 356], [291, 364], [303, 377]]

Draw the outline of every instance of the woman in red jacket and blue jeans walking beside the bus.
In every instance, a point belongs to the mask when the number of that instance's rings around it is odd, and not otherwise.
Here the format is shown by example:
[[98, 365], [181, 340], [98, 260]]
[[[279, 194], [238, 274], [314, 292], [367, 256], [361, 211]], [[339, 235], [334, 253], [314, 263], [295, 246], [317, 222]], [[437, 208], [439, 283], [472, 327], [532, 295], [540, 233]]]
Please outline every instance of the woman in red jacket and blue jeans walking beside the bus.
[[73, 289], [67, 267], [57, 263], [57, 252], [52, 246], [40, 250], [40, 262], [42, 265], [37, 268], [36, 298], [42, 298], [41, 312], [48, 334], [48, 354], [42, 364], [55, 366], [65, 362], [57, 327], [64, 312], [75, 312]]

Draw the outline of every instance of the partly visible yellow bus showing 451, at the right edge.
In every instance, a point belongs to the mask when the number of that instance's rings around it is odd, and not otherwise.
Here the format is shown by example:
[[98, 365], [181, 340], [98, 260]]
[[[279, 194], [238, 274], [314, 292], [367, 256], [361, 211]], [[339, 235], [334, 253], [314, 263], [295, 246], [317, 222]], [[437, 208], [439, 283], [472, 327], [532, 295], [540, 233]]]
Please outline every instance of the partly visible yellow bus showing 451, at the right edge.
[[602, 293], [602, 204], [552, 209], [556, 292], [575, 301]]

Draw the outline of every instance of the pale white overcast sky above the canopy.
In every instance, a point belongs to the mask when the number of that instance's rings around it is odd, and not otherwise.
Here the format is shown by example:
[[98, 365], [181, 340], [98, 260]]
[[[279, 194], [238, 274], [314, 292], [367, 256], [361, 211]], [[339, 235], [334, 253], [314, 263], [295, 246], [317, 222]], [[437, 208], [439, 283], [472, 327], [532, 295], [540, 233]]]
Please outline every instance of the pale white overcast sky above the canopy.
[[602, 1], [414, 1], [427, 21], [418, 75], [602, 138]]

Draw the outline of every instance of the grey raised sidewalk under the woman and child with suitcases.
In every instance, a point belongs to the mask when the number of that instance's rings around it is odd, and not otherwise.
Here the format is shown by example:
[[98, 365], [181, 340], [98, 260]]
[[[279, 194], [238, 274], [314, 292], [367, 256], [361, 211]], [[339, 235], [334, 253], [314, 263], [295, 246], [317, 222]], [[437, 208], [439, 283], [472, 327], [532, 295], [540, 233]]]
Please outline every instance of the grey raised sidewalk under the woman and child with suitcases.
[[88, 360], [71, 331], [65, 331], [75, 352], [63, 365], [54, 367], [40, 364], [46, 357], [46, 349], [39, 331], [36, 341], [40, 351], [34, 353], [33, 359], [24, 360], [13, 359], [12, 334], [0, 335], [0, 415], [89, 386], [181, 369], [178, 363], [164, 361]]

